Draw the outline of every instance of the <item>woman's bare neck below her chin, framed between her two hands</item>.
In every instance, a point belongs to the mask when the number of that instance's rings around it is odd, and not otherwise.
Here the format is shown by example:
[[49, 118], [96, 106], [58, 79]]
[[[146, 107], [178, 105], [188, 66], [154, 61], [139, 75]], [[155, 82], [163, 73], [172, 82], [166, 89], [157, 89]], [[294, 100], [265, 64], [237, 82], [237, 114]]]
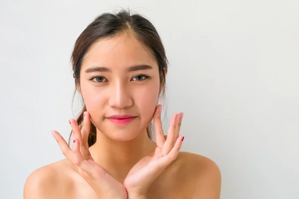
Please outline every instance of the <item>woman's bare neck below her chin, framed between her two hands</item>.
[[97, 141], [89, 150], [97, 164], [123, 183], [131, 168], [155, 147], [146, 130], [129, 141], [112, 140], [97, 130]]

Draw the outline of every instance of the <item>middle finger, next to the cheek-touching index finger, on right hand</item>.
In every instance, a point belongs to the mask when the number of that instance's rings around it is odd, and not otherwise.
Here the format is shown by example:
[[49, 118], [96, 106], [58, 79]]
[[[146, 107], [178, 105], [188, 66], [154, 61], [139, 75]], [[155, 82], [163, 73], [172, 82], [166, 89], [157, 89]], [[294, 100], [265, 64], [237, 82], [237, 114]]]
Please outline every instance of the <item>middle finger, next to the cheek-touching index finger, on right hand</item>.
[[176, 126], [176, 117], [177, 114], [173, 114], [171, 117], [170, 125], [167, 132], [167, 139], [162, 147], [162, 155], [165, 156], [169, 153], [169, 151], [173, 148], [175, 142], [175, 126]]

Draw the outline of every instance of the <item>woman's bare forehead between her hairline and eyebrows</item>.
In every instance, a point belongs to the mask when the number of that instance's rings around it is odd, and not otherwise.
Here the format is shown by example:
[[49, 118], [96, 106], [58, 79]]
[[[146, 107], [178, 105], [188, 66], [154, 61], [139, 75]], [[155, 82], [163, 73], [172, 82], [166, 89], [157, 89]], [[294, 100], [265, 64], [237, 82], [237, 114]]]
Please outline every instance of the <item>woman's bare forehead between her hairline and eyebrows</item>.
[[150, 51], [134, 36], [123, 34], [104, 38], [92, 45], [85, 56], [82, 68], [91, 65], [128, 67], [136, 64], [156, 65]]

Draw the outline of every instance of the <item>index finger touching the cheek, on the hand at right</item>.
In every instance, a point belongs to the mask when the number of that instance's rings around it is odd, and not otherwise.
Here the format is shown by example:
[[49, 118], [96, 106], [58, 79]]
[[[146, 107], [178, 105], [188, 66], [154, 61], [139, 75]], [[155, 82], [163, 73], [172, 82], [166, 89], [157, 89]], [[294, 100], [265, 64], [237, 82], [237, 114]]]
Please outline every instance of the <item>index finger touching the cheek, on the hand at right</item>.
[[154, 132], [155, 132], [155, 141], [156, 145], [159, 148], [163, 147], [165, 142], [162, 121], [161, 121], [161, 109], [162, 105], [157, 105], [154, 115], [153, 115], [153, 125], [154, 125]]

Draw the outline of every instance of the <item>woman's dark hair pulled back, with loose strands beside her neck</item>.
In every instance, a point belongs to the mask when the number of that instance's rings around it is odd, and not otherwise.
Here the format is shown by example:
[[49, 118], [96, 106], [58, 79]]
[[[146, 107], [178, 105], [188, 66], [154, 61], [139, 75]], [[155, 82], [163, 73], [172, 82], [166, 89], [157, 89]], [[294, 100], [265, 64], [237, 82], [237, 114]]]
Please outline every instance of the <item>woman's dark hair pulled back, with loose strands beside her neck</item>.
[[[121, 10], [116, 14], [103, 13], [96, 17], [79, 35], [71, 55], [71, 63], [73, 68], [73, 77], [75, 78], [76, 89], [80, 88], [80, 70], [86, 53], [91, 46], [100, 39], [114, 37], [122, 33], [132, 33], [151, 53], [159, 68], [160, 91], [159, 97], [165, 97], [165, 74], [163, 69], [167, 71], [168, 60], [165, 55], [164, 46], [153, 24], [141, 16], [140, 14], [131, 14], [130, 10]], [[74, 100], [73, 97], [73, 100]], [[81, 96], [82, 97], [82, 96]], [[86, 105], [82, 100], [83, 108], [77, 118], [77, 123], [82, 128], [83, 114], [86, 111]], [[147, 133], [152, 139], [152, 124], [147, 127]], [[69, 144], [72, 132], [69, 136]], [[88, 137], [88, 145], [92, 146], [96, 142], [96, 127], [91, 122], [90, 134]]]

